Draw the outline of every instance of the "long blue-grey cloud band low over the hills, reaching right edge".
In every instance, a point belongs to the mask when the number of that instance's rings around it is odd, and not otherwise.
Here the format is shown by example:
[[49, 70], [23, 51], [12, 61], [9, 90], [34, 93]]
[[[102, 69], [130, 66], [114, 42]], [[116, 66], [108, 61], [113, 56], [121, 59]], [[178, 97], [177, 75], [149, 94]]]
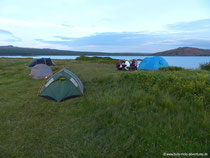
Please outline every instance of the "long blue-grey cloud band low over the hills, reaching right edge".
[[188, 38], [178, 34], [143, 33], [97, 33], [91, 36], [72, 38], [54, 36], [57, 40], [36, 39], [41, 43], [63, 45], [74, 50], [110, 52], [156, 52], [177, 47], [210, 48], [210, 40]]

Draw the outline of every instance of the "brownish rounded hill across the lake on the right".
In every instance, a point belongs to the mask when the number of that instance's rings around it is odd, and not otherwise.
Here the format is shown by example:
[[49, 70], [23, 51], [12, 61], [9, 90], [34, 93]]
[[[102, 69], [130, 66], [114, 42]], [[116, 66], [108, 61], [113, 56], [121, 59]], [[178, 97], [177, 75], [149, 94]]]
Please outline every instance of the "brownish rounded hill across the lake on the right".
[[192, 47], [180, 47], [164, 52], [154, 53], [155, 56], [210, 56], [209, 49], [199, 49]]

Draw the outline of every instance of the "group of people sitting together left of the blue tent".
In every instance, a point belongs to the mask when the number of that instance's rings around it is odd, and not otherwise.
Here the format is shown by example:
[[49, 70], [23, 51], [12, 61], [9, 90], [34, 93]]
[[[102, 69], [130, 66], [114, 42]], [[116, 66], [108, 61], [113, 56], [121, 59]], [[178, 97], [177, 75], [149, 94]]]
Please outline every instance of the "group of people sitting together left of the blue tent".
[[116, 62], [116, 68], [118, 70], [137, 70], [137, 59], [133, 59], [130, 62], [128, 60], [122, 60], [120, 64], [120, 60]]

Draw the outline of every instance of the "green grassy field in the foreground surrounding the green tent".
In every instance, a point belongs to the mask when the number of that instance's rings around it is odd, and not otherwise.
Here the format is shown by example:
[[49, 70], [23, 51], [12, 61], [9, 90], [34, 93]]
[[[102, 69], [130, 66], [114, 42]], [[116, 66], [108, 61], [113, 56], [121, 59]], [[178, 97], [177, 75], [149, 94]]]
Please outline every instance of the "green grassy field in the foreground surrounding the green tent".
[[119, 72], [54, 60], [82, 76], [84, 97], [37, 96], [31, 59], [0, 59], [0, 158], [162, 157], [209, 153], [210, 72]]

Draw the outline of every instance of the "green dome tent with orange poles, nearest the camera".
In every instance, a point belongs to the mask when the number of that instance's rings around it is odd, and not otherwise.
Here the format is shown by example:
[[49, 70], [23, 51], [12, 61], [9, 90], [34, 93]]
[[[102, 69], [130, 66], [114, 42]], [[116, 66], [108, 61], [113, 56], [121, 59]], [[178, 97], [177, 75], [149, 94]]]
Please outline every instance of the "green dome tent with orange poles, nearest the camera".
[[39, 96], [60, 102], [82, 96], [84, 91], [85, 87], [78, 75], [63, 68], [41, 85]]

